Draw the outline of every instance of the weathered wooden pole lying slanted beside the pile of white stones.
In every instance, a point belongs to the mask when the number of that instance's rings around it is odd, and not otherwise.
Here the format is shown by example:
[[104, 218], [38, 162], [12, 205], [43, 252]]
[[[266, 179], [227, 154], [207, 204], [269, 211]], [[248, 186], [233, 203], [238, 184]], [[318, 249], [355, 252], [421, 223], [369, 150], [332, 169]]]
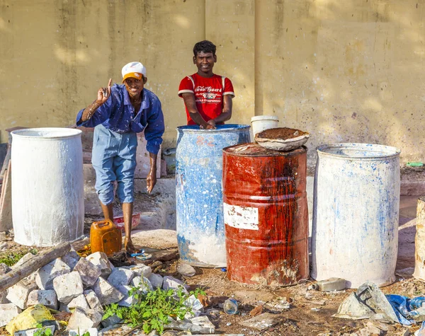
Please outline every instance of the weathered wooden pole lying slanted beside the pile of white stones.
[[61, 243], [49, 250], [41, 252], [39, 255], [34, 255], [30, 260], [24, 262], [20, 267], [15, 270], [11, 270], [0, 277], [0, 292], [8, 289], [20, 282], [24, 277], [32, 274], [40, 267], [47, 265], [49, 262], [55, 260], [58, 257], [66, 255], [71, 250], [71, 244]]

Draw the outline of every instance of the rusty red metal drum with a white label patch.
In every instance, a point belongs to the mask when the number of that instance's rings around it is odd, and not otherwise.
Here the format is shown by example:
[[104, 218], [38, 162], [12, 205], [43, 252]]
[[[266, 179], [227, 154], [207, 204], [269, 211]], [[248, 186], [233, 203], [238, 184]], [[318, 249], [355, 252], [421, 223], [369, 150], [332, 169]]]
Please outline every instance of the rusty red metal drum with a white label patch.
[[229, 279], [286, 286], [307, 279], [307, 148], [259, 144], [223, 149], [223, 208]]

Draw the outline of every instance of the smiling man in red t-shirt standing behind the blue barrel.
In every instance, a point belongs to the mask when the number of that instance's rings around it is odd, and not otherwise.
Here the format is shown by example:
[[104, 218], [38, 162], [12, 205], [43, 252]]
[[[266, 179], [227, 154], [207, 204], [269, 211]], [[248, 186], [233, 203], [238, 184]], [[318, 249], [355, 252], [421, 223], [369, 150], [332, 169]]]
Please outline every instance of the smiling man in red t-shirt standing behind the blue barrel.
[[198, 67], [198, 72], [181, 80], [179, 96], [186, 106], [188, 124], [215, 129], [215, 124], [224, 124], [232, 117], [232, 81], [212, 73], [217, 62], [212, 42], [196, 43], [193, 55], [193, 64]]

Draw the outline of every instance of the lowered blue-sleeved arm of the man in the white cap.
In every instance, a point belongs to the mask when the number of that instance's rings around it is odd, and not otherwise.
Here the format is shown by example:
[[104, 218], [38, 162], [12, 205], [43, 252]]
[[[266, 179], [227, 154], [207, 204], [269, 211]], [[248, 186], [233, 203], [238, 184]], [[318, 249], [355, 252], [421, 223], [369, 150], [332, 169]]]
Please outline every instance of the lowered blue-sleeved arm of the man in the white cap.
[[146, 178], [147, 193], [150, 194], [157, 183], [157, 156], [159, 146], [162, 144], [164, 134], [164, 115], [161, 102], [158, 98], [152, 102], [152, 109], [147, 116], [147, 127], [145, 128], [146, 149], [149, 151], [150, 170]]

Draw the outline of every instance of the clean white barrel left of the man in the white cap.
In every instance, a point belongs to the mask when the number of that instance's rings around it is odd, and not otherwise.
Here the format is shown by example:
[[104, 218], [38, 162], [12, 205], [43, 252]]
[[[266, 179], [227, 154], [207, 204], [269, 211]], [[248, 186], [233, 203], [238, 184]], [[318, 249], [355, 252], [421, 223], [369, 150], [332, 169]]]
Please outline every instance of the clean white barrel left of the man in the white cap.
[[11, 132], [12, 219], [16, 243], [54, 246], [84, 233], [81, 131]]

